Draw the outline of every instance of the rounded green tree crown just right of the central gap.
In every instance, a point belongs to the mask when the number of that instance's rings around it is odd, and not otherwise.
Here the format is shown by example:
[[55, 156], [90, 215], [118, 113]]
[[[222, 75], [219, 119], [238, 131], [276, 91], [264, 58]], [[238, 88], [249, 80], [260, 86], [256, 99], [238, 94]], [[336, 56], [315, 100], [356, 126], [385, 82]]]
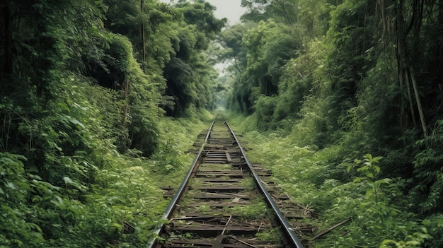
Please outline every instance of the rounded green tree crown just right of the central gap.
[[[241, 32], [240, 28], [233, 28], [231, 32], [232, 34], [224, 37], [227, 51], [222, 58], [233, 59], [231, 71], [241, 74], [236, 76], [232, 86], [233, 95], [230, 102], [231, 105], [238, 106], [241, 112], [251, 113], [252, 110], [258, 110], [258, 107], [253, 105], [260, 102], [261, 95], [271, 97], [278, 93], [282, 66], [287, 64], [289, 59], [297, 57], [301, 37], [297, 29], [270, 19], [253, 25], [243, 36], [243, 49], [240, 49], [238, 36], [232, 37], [240, 35], [237, 33]], [[240, 54], [232, 54], [231, 49]], [[261, 101], [263, 100], [264, 98]], [[272, 109], [263, 110], [259, 115], [265, 119], [272, 119], [275, 105], [267, 107]], [[265, 117], [264, 113], [270, 115]]]

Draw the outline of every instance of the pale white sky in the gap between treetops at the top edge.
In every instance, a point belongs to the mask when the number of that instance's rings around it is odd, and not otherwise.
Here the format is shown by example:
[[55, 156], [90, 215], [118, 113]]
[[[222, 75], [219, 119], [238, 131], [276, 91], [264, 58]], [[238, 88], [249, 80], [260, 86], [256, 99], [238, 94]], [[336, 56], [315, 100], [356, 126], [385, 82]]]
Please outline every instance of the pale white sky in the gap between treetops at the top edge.
[[[159, 0], [163, 3], [171, 3], [171, 0]], [[241, 0], [206, 0], [217, 7], [214, 16], [217, 18], [228, 18], [228, 24], [234, 25], [240, 20], [240, 16], [245, 13], [246, 8], [241, 8]]]

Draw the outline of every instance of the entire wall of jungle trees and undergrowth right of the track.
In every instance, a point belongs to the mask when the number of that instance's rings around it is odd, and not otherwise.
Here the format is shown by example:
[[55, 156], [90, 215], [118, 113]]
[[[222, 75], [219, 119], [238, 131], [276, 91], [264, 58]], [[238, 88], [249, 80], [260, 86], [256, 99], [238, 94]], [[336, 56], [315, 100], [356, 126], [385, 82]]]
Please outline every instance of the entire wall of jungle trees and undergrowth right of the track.
[[352, 218], [315, 247], [441, 247], [443, 1], [242, 4], [226, 105], [321, 229]]

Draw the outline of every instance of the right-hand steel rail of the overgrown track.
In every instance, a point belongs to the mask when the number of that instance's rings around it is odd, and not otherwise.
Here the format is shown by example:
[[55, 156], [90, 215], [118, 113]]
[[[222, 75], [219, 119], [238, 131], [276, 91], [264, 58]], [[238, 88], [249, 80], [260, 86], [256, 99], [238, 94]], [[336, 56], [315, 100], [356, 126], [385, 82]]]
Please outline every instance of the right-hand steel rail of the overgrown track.
[[263, 184], [263, 182], [261, 182], [260, 177], [258, 176], [257, 172], [255, 172], [254, 168], [252, 167], [251, 163], [249, 162], [248, 158], [246, 157], [245, 150], [243, 150], [243, 147], [241, 147], [240, 143], [238, 142], [238, 139], [237, 139], [236, 135], [234, 134], [234, 131], [232, 131], [231, 126], [229, 126], [228, 122], [226, 122], [226, 119], [224, 119], [224, 123], [226, 124], [226, 126], [228, 126], [229, 131], [231, 132], [232, 137], [235, 139], [235, 141], [236, 141], [236, 143], [238, 145], [238, 148], [240, 148], [241, 155], [243, 155], [243, 158], [244, 158], [246, 164], [248, 165], [249, 170], [251, 170], [251, 173], [252, 173], [252, 175], [253, 175], [253, 177], [255, 179], [255, 183], [260, 188], [260, 191], [265, 195], [267, 203], [272, 207], [272, 209], [277, 214], [277, 218], [278, 218], [280, 224], [282, 224], [282, 226], [284, 227], [284, 232], [286, 232], [286, 234], [290, 238], [290, 241], [292, 242], [294, 247], [303, 248], [303, 244], [301, 244], [301, 242], [300, 242], [299, 238], [297, 237], [294, 229], [291, 228], [291, 226], [287, 222], [286, 218], [284, 218], [283, 213], [280, 211], [280, 209], [278, 208], [277, 204], [272, 199], [272, 196], [267, 191], [267, 189], [265, 187], [265, 184]]

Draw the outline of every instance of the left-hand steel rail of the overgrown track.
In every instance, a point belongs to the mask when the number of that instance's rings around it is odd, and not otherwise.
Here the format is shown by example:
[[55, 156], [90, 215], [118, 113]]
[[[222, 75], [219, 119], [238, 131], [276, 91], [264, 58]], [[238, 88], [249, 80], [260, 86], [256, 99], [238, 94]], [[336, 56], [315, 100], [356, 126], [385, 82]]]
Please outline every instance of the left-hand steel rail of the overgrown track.
[[[211, 136], [212, 127], [214, 127], [214, 123], [215, 123], [216, 119], [217, 119], [217, 116], [214, 118], [214, 120], [212, 120], [212, 124], [209, 127], [209, 130], [207, 131], [207, 134], [206, 134], [205, 142], [200, 147], [200, 150], [198, 151], [197, 155], [195, 156], [194, 161], [192, 162], [191, 167], [188, 170], [188, 174], [186, 174], [185, 179], [183, 179], [183, 182], [180, 184], [180, 187], [178, 187], [176, 194], [174, 194], [173, 199], [171, 200], [171, 203], [169, 203], [168, 208], [166, 208], [166, 211], [163, 214], [163, 216], [161, 217], [161, 220], [169, 220], [169, 218], [171, 218], [171, 215], [172, 215], [173, 211], [175, 210], [178, 201], [180, 201], [180, 198], [183, 196], [186, 186], [188, 185], [188, 182], [189, 182], [190, 178], [192, 177], [192, 173], [195, 172], [195, 170], [197, 169], [197, 162], [202, 155], [202, 150], [205, 147], [205, 143], [207, 143], [209, 136]], [[163, 230], [164, 227], [165, 227], [165, 223], [161, 223], [161, 225], [154, 231], [155, 237], [154, 237], [154, 240], [152, 240], [149, 243], [149, 245], [148, 245], [149, 248], [154, 247], [154, 245], [156, 244], [157, 237], [159, 237], [160, 232], [161, 232], [161, 230]]]

